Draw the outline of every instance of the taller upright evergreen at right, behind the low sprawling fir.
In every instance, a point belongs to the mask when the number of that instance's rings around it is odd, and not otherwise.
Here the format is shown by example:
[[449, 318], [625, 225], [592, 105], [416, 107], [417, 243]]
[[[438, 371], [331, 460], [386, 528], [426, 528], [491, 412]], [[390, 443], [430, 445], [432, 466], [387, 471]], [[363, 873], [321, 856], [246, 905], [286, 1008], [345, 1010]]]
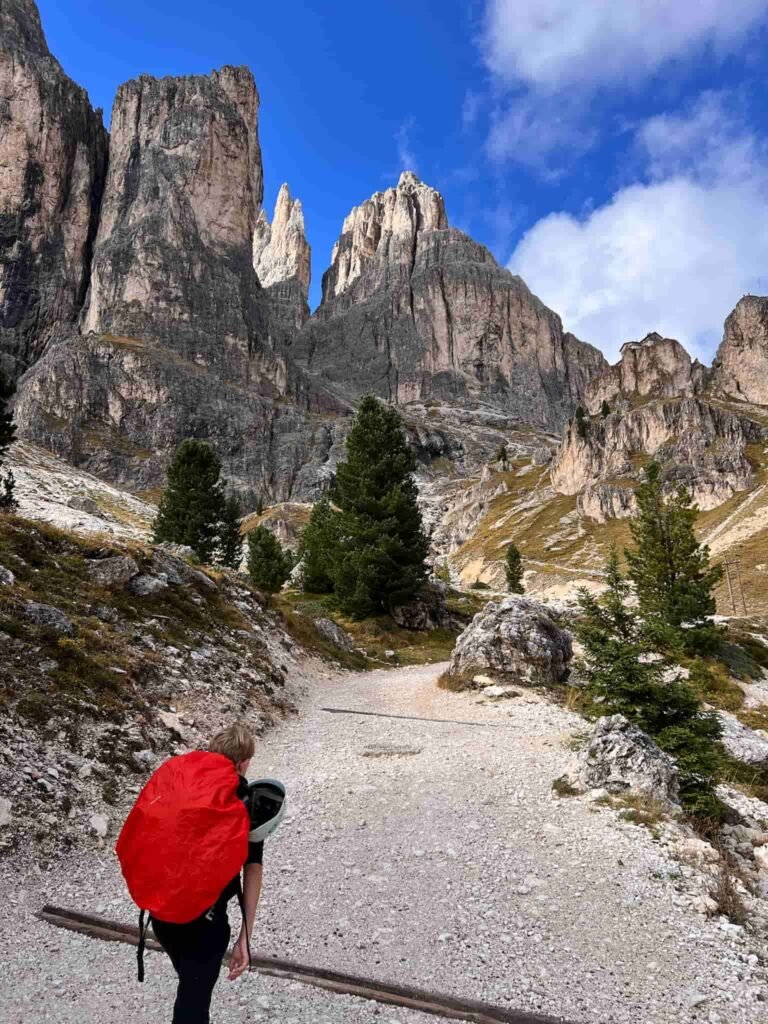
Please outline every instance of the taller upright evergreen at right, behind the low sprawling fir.
[[[696, 509], [685, 487], [663, 494], [662, 471], [652, 462], [637, 488], [638, 514], [630, 522], [634, 548], [628, 550], [629, 577], [640, 613], [662, 646], [682, 643], [706, 652], [717, 645], [712, 591], [723, 570], [710, 564], [710, 551], [693, 531]], [[685, 628], [683, 628], [685, 626]]]

